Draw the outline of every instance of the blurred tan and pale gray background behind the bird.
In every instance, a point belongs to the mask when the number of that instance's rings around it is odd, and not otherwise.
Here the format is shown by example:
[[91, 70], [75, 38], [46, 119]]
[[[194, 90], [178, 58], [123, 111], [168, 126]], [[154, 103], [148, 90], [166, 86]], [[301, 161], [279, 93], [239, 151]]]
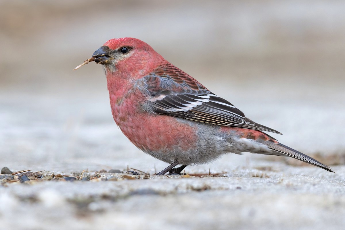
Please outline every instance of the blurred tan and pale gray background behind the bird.
[[[272, 134], [280, 142], [342, 164], [344, 9], [344, 1], [321, 0], [1, 0], [1, 167], [166, 167], [117, 128], [102, 66], [72, 71], [120, 37], [147, 42], [247, 117], [282, 132]], [[253, 157], [193, 168], [235, 169]]]

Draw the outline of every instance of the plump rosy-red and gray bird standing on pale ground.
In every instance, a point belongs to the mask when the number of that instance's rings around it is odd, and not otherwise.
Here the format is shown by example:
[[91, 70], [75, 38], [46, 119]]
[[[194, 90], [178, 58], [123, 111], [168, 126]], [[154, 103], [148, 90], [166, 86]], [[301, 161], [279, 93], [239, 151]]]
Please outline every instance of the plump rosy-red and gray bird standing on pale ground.
[[111, 39], [89, 60], [104, 66], [121, 131], [139, 149], [170, 164], [157, 175], [242, 152], [289, 156], [333, 172], [263, 133], [280, 134], [245, 117], [139, 39]]

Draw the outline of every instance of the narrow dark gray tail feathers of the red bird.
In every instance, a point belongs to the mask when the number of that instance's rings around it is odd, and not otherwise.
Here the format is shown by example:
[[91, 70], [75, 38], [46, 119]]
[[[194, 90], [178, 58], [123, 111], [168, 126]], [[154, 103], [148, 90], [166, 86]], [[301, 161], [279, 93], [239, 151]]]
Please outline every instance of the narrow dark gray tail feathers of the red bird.
[[327, 165], [322, 164], [321, 162], [315, 160], [312, 157], [309, 157], [293, 148], [290, 148], [286, 145], [280, 144], [280, 143], [274, 143], [274, 142], [266, 142], [268, 147], [272, 150], [274, 150], [276, 153], [273, 155], [278, 156], [288, 156], [295, 158], [297, 160], [302, 160], [308, 164], [315, 165], [317, 167], [323, 168], [327, 171], [334, 172], [331, 168], [329, 168]]

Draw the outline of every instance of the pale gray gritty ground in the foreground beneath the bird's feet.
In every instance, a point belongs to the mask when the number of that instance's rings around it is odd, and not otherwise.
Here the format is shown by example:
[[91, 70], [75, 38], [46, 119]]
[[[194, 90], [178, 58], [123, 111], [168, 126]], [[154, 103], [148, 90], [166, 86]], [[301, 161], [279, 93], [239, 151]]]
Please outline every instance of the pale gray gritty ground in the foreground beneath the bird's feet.
[[8, 182], [0, 187], [1, 222], [10, 229], [342, 229], [344, 167], [333, 174], [269, 165], [217, 177], [101, 173], [90, 181]]

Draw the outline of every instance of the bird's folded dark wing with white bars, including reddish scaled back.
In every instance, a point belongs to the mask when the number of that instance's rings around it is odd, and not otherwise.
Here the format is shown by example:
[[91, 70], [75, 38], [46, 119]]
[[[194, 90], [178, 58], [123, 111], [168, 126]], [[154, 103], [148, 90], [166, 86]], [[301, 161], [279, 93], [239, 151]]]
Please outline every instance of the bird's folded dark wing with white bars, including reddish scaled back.
[[150, 95], [147, 104], [157, 114], [280, 134], [251, 121], [233, 104], [211, 93], [193, 77], [171, 64], [159, 66], [142, 80]]

